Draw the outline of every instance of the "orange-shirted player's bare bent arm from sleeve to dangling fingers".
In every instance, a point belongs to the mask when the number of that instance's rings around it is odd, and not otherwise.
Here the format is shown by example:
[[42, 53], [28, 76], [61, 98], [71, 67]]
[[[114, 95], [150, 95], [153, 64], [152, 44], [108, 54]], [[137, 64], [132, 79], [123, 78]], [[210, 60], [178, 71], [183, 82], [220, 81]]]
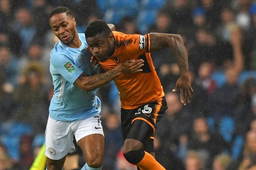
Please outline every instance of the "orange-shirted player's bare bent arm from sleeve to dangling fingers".
[[160, 50], [168, 46], [176, 58], [181, 73], [173, 91], [176, 92], [178, 88], [180, 89], [181, 103], [186, 105], [187, 101], [190, 102], [193, 89], [189, 80], [188, 54], [182, 41], [181, 35], [163, 33], [150, 34], [150, 51]]

